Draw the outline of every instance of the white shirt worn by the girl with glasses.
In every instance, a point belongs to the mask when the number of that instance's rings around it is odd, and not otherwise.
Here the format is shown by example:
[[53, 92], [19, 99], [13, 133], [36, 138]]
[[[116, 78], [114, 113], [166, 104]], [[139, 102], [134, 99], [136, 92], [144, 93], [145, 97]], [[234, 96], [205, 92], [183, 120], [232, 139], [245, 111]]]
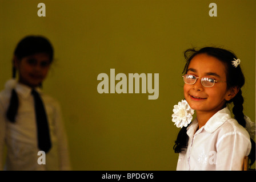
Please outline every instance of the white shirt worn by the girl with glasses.
[[227, 107], [219, 110], [197, 131], [198, 121], [187, 127], [187, 148], [179, 153], [177, 170], [241, 170], [249, 155], [249, 133], [231, 118]]

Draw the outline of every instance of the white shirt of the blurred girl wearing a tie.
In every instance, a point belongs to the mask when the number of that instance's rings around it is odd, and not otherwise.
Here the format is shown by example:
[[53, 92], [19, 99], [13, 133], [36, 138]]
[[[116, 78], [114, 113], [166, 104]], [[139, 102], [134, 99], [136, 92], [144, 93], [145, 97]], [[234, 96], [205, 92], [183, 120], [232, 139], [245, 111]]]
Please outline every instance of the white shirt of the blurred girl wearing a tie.
[[[38, 154], [40, 150], [37, 143], [37, 126], [31, 88], [19, 83], [14, 84], [18, 94], [19, 107], [15, 123], [12, 123], [6, 118], [12, 89], [9, 82], [6, 84], [6, 89], [0, 93], [0, 169], [70, 170], [67, 137], [58, 102], [37, 88], [45, 105], [52, 145], [46, 154], [46, 164], [42, 164], [43, 156]], [[5, 168], [3, 168], [5, 144], [7, 157]], [[38, 160], [41, 161], [41, 164], [38, 164]]]

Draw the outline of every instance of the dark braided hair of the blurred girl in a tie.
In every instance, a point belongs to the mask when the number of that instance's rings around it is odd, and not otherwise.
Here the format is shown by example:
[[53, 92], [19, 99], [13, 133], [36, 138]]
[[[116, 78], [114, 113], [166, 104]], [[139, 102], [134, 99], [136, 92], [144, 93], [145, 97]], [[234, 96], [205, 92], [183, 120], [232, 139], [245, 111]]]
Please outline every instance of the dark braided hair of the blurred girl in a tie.
[[[21, 61], [24, 57], [34, 55], [35, 53], [47, 53], [50, 62], [53, 61], [53, 47], [49, 40], [43, 36], [26, 36], [17, 45], [14, 51], [14, 56]], [[14, 60], [13, 60], [14, 62]], [[13, 65], [12, 76], [16, 77], [16, 68]], [[6, 111], [6, 117], [10, 122], [15, 122], [19, 107], [18, 95], [15, 89], [11, 90], [10, 105]]]

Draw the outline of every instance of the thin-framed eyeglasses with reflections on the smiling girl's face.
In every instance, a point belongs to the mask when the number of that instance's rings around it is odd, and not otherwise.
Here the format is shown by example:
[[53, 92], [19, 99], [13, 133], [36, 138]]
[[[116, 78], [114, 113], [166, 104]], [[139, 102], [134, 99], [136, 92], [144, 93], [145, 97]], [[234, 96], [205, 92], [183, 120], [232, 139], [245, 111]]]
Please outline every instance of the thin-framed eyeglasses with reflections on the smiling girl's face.
[[[184, 82], [189, 85], [195, 84], [195, 82], [197, 81], [197, 78], [201, 78], [191, 74], [186, 74], [186, 75], [183, 75], [182, 77]], [[215, 82], [226, 82], [226, 81], [217, 81], [214, 78], [207, 77], [207, 76], [204, 76], [201, 78], [201, 84], [205, 87], [211, 87], [215, 84]]]

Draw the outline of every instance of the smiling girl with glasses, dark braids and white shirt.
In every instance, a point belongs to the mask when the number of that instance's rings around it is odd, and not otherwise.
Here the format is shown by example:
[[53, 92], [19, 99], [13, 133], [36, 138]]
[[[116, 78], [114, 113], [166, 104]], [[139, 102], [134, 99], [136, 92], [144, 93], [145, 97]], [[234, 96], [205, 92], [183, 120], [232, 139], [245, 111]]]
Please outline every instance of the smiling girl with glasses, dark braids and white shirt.
[[[177, 170], [241, 170], [245, 156], [253, 164], [255, 123], [243, 114], [245, 78], [240, 60], [214, 47], [188, 49], [185, 58], [184, 96], [197, 117], [181, 126], [175, 141]], [[227, 107], [230, 103], [234, 118]]]

